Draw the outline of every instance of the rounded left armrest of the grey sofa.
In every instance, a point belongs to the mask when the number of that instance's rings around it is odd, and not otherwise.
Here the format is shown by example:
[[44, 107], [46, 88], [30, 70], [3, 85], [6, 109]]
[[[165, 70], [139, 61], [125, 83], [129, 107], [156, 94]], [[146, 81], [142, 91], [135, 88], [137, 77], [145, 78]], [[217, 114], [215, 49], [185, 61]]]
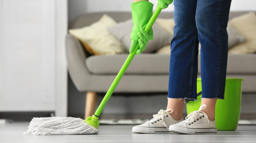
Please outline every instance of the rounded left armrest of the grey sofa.
[[90, 79], [90, 72], [85, 66], [85, 59], [88, 55], [81, 43], [70, 34], [66, 35], [66, 56], [70, 77], [77, 90], [83, 92], [83, 86]]

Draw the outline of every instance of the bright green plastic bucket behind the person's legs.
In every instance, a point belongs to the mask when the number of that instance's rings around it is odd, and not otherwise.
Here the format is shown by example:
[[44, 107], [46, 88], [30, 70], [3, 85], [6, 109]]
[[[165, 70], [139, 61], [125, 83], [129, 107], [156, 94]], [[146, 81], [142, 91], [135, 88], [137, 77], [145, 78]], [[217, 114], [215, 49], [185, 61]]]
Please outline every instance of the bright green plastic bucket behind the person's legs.
[[[218, 131], [237, 129], [241, 110], [242, 78], [226, 78], [224, 100], [217, 99], [215, 107], [216, 128]], [[197, 79], [197, 92], [202, 91], [201, 78]], [[187, 114], [196, 111], [201, 105], [201, 95], [197, 101], [186, 103]]]

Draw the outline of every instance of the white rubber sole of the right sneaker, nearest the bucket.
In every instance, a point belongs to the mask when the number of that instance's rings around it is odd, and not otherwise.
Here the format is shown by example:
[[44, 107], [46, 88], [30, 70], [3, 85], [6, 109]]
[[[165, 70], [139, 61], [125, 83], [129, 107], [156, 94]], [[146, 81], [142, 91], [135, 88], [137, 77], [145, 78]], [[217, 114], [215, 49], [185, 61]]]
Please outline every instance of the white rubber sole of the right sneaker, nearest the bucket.
[[181, 126], [171, 125], [169, 131], [176, 134], [217, 134], [216, 128], [185, 128]]

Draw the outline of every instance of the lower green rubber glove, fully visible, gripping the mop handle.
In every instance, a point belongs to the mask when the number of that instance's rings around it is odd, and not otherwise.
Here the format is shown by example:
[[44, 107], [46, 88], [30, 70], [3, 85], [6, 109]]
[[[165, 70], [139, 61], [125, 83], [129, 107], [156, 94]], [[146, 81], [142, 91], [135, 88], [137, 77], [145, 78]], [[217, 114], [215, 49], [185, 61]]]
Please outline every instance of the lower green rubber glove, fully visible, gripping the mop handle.
[[131, 33], [132, 44], [129, 52], [132, 53], [137, 42], [139, 42], [139, 50], [136, 51], [136, 55], [139, 55], [141, 51], [145, 50], [148, 40], [153, 40], [152, 28], [149, 30], [149, 33], [144, 31], [144, 28], [152, 16], [153, 4], [148, 1], [138, 1], [131, 4], [131, 9], [133, 30]]

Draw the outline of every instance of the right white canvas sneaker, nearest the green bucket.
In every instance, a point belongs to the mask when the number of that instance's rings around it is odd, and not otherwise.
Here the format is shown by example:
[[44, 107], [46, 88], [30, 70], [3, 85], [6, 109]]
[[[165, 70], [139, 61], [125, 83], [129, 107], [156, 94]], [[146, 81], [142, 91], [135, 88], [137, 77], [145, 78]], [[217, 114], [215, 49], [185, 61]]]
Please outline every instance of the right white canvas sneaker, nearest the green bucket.
[[202, 112], [206, 108], [203, 104], [199, 110], [193, 111], [178, 124], [170, 125], [169, 131], [178, 134], [217, 134], [216, 123], [210, 121], [207, 115]]

